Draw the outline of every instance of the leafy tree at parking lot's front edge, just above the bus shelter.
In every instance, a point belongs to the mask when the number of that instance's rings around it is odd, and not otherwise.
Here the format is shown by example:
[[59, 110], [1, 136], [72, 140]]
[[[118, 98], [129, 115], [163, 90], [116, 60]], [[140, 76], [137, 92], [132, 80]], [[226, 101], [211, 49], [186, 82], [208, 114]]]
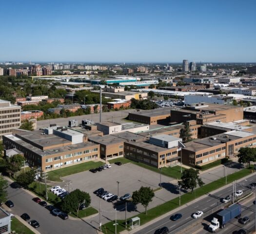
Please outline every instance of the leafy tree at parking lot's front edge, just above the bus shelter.
[[148, 204], [152, 202], [154, 196], [155, 193], [153, 192], [153, 189], [151, 189], [150, 187], [141, 186], [138, 191], [133, 192], [133, 203], [135, 205], [140, 203], [145, 208], [145, 214], [147, 215]]

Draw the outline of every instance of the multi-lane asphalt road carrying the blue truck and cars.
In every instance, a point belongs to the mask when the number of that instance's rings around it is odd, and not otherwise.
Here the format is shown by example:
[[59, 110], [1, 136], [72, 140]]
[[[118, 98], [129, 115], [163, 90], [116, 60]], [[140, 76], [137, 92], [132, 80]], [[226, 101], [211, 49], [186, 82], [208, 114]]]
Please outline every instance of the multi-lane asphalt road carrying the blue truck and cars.
[[[244, 182], [250, 184], [255, 181], [256, 181], [256, 175], [252, 175], [249, 178], [247, 178], [246, 181], [244, 181]], [[238, 185], [236, 190], [239, 190], [239, 189], [241, 189], [244, 192], [246, 191], [246, 189], [241, 188]], [[170, 216], [166, 216], [166, 217], [158, 220], [157, 222], [139, 230], [138, 232], [136, 232], [136, 234], [154, 234], [158, 228], [161, 228], [163, 226], [168, 227], [170, 233], [177, 234], [177, 228], [180, 228], [180, 226], [185, 228], [186, 226], [191, 225], [194, 222], [196, 222], [196, 220], [191, 217], [191, 215], [193, 213], [200, 210], [200, 211], [203, 211], [204, 214], [206, 214], [209, 210], [211, 210], [214, 207], [221, 204], [220, 199], [222, 197], [231, 195], [232, 192], [233, 192], [233, 186], [231, 184], [227, 188], [222, 189], [216, 193], [209, 194], [207, 197], [202, 198], [191, 205], [187, 205], [185, 208], [178, 211], [177, 213], [182, 214], [181, 219], [179, 219], [177, 221], [171, 221]], [[201, 231], [203, 231], [203, 230], [201, 230]], [[203, 232], [199, 232], [199, 233], [201, 234]], [[206, 231], [206, 233], [209, 233], [209, 232]], [[196, 232], [195, 232], [195, 234], [196, 234]]]

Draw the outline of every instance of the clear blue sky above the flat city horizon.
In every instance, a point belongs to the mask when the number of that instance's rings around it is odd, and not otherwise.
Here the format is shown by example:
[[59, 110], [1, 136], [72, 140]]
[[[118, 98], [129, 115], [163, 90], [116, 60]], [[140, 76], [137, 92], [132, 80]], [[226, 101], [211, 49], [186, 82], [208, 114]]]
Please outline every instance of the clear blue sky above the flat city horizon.
[[256, 62], [256, 0], [0, 4], [0, 61]]

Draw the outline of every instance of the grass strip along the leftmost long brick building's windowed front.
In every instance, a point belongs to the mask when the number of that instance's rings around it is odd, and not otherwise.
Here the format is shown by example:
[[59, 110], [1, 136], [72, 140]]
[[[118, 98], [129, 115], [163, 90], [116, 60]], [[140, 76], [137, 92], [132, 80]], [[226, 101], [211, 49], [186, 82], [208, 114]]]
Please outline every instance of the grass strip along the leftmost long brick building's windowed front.
[[104, 165], [103, 162], [90, 161], [90, 162], [80, 163], [74, 166], [57, 169], [57, 170], [48, 172], [48, 180], [61, 182], [62, 180], [60, 179], [60, 177], [70, 176], [79, 172], [88, 171], [92, 168], [96, 168], [102, 165]]

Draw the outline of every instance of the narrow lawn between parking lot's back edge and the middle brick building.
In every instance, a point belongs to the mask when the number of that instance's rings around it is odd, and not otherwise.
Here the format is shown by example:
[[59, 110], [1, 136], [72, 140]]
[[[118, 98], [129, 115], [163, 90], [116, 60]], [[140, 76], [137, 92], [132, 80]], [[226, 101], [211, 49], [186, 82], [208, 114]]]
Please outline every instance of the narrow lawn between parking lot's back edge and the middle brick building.
[[[108, 161], [109, 161], [109, 163], [121, 162], [122, 164], [130, 162], [130, 163], [136, 164], [137, 166], [140, 166], [140, 167], [143, 167], [145, 169], [151, 170], [153, 172], [160, 173], [160, 170], [156, 167], [152, 167], [152, 166], [146, 165], [146, 164], [141, 163], [141, 162], [134, 162], [134, 161], [129, 160], [125, 157], [119, 157], [119, 158], [111, 159], [111, 160], [108, 160]], [[183, 171], [185, 169], [186, 168], [182, 167]], [[180, 179], [180, 176], [181, 176], [180, 166], [163, 167], [162, 168], [162, 175], [169, 176], [169, 177], [172, 177], [172, 178], [175, 178], [175, 179], [177, 179], [177, 178]]]

